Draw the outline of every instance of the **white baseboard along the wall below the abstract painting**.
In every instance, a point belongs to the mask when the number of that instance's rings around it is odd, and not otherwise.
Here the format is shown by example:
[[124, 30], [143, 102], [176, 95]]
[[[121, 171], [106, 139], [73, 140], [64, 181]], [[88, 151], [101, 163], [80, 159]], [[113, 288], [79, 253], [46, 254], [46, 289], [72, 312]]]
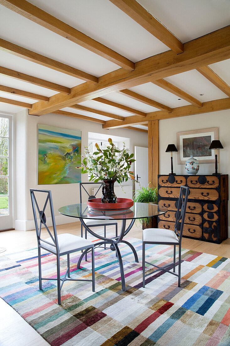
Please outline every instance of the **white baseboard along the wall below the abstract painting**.
[[[38, 221], [38, 225], [39, 225], [40, 224], [39, 219], [37, 221]], [[74, 217], [68, 217], [65, 215], [55, 216], [56, 225], [69, 224], [70, 222], [77, 222], [77, 221], [79, 222], [79, 220], [77, 218], [74, 218]], [[51, 217], [47, 217], [46, 225], [47, 225], [47, 227], [52, 226]], [[44, 228], [44, 227], [45, 226], [42, 225], [42, 228]], [[32, 229], [35, 229], [34, 220], [15, 220], [15, 229], [17, 229], [19, 231], [30, 231]]]

